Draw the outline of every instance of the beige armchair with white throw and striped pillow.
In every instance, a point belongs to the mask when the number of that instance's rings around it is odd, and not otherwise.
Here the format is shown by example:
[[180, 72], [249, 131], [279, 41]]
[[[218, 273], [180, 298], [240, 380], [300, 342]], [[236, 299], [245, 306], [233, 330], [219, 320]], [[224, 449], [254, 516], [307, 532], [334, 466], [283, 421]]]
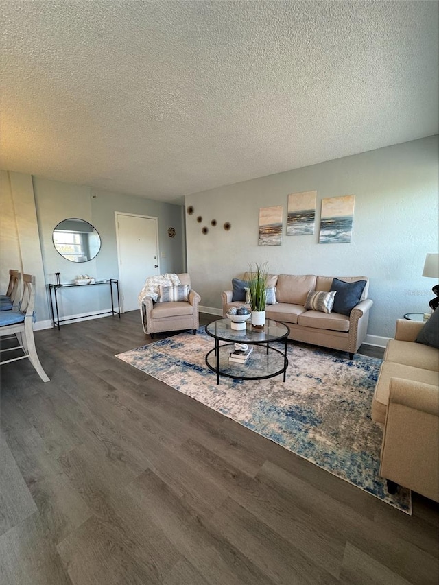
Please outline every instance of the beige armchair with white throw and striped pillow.
[[[191, 286], [191, 277], [187, 272], [178, 274], [182, 285]], [[200, 326], [198, 305], [201, 297], [191, 289], [187, 301], [153, 302], [151, 297], [145, 297], [141, 305], [143, 329], [150, 333], [154, 339], [154, 333], [161, 331], [180, 331], [193, 329], [193, 335]]]

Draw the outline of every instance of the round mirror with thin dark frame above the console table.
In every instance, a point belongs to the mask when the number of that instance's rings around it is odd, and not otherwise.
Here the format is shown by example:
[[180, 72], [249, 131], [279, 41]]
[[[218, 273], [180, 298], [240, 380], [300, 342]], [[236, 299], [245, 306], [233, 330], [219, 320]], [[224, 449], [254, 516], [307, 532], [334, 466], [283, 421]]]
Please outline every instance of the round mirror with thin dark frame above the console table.
[[84, 219], [64, 219], [52, 235], [56, 251], [71, 262], [88, 262], [101, 248], [101, 238]]

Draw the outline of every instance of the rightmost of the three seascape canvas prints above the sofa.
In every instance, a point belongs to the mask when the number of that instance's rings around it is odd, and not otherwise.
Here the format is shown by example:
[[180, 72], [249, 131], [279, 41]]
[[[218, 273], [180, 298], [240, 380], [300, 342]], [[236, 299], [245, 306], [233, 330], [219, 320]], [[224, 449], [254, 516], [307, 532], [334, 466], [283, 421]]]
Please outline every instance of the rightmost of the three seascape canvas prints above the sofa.
[[349, 243], [355, 195], [322, 199], [319, 243]]

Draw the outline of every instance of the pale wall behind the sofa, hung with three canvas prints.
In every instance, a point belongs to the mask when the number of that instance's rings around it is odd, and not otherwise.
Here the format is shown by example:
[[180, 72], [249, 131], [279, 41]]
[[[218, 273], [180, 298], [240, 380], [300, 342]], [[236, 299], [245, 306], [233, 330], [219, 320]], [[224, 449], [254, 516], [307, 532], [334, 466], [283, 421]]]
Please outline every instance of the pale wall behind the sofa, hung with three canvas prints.
[[[316, 233], [287, 236], [288, 194], [313, 190]], [[351, 243], [319, 244], [322, 198], [351, 194]], [[435, 282], [421, 274], [425, 254], [438, 252], [438, 136], [196, 193], [187, 196], [189, 205], [195, 212], [186, 215], [187, 265], [203, 307], [219, 309], [231, 278], [250, 262], [268, 261], [273, 274], [368, 276], [372, 336], [393, 337], [396, 318], [428, 309]], [[283, 206], [283, 243], [259, 247], [259, 208], [272, 205]]]

